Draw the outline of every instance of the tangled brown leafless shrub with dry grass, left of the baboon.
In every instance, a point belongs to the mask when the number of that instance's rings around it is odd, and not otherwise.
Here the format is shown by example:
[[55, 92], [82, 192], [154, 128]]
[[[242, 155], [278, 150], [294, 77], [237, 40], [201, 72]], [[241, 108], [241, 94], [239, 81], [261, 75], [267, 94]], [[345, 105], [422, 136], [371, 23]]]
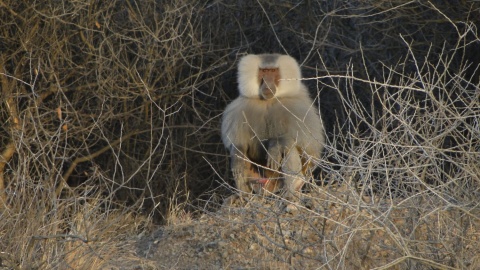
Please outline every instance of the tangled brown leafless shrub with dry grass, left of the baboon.
[[198, 138], [218, 137], [205, 122], [225, 61], [205, 51], [196, 7], [0, 3], [2, 261], [99, 266], [144, 229], [134, 220], [164, 222], [208, 187], [186, 176]]

